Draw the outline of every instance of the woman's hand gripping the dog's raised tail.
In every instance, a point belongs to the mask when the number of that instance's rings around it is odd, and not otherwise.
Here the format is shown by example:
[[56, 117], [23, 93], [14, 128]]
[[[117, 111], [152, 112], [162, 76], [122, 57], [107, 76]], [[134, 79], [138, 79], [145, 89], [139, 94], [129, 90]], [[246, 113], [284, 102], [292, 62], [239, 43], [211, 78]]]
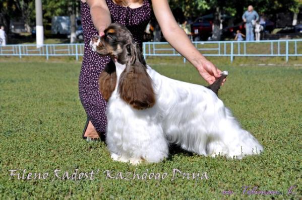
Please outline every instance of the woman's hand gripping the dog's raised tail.
[[[203, 60], [202, 64], [196, 67], [199, 74], [209, 83], [212, 84], [217, 78], [221, 76], [221, 71], [210, 61]], [[222, 81], [222, 85], [226, 79]]]

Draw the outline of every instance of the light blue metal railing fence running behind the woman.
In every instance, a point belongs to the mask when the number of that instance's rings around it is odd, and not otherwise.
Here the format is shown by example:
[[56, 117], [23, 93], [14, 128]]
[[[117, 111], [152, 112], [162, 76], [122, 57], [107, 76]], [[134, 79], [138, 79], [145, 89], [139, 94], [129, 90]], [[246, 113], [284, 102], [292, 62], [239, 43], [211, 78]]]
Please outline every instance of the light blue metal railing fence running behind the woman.
[[[230, 57], [289, 57], [302, 56], [302, 39], [263, 41], [210, 41], [193, 42], [204, 56]], [[75, 56], [79, 60], [84, 54], [84, 44], [45, 44], [37, 48], [33, 44], [0, 46], [0, 56]], [[167, 42], [143, 43], [143, 54], [149, 56], [181, 56]], [[186, 59], [184, 58], [184, 62]]]

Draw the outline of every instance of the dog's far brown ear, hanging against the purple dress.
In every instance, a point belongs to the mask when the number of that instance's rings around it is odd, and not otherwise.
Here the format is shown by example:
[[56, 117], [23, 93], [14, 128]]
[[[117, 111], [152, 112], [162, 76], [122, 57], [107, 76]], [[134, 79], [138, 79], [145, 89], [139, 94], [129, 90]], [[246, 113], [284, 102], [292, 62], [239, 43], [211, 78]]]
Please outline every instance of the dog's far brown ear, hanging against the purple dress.
[[112, 60], [106, 64], [105, 69], [99, 76], [99, 90], [103, 98], [108, 102], [116, 86], [115, 64]]

